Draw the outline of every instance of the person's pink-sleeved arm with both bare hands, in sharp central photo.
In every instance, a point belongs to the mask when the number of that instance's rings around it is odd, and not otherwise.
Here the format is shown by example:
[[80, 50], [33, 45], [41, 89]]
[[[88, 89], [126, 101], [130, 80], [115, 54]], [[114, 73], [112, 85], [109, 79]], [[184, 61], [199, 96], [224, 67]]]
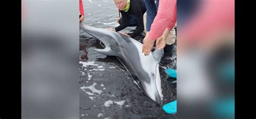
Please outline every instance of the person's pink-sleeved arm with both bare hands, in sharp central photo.
[[158, 50], [166, 45], [165, 34], [168, 34], [176, 24], [177, 0], [159, 0], [157, 16], [151, 25], [150, 32], [143, 40], [142, 52], [149, 55], [154, 47], [154, 41]]

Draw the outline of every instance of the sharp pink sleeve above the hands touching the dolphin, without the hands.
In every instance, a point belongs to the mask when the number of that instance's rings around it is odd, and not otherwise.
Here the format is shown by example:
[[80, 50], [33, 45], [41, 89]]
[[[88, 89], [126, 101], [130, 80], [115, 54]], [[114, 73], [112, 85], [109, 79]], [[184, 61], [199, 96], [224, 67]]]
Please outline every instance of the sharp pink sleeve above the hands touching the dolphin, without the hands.
[[157, 16], [151, 25], [149, 38], [156, 40], [164, 33], [166, 27], [171, 30], [176, 23], [177, 0], [160, 0]]

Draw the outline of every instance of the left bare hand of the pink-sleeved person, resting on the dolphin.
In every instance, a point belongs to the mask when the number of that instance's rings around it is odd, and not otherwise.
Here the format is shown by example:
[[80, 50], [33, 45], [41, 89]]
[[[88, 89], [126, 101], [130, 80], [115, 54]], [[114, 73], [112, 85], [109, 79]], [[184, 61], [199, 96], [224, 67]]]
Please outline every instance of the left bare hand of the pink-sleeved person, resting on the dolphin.
[[154, 40], [150, 39], [147, 34], [143, 39], [142, 53], [144, 53], [144, 55], [149, 55], [154, 47]]

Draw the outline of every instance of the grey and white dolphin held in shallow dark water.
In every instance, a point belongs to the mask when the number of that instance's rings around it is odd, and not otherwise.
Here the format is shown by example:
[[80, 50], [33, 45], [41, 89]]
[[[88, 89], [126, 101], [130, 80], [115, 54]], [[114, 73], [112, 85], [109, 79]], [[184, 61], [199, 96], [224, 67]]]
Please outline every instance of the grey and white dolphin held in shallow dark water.
[[79, 27], [92, 37], [102, 41], [105, 45], [104, 49], [95, 49], [95, 51], [105, 55], [116, 56], [129, 71], [132, 78], [137, 81], [144, 94], [158, 104], [163, 102], [159, 74], [159, 61], [163, 55], [163, 50], [156, 49], [145, 56], [142, 53], [143, 44], [135, 39], [118, 32], [99, 29], [82, 23], [80, 23]]

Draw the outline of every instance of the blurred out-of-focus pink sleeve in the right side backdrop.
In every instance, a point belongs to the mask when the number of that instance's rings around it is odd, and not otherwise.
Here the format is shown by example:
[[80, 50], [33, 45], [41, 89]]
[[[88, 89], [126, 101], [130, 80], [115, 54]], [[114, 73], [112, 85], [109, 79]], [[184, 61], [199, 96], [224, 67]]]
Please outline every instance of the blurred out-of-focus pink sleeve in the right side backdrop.
[[179, 39], [206, 40], [220, 30], [234, 29], [234, 0], [202, 1], [200, 10], [181, 27]]

